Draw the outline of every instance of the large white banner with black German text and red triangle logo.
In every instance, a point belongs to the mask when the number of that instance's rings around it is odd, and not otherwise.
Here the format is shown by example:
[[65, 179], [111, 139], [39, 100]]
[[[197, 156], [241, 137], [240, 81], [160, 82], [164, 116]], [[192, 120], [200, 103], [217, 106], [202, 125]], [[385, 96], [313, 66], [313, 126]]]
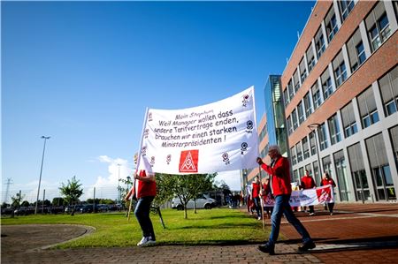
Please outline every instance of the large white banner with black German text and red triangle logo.
[[257, 167], [254, 87], [189, 109], [148, 109], [139, 170], [214, 173]]

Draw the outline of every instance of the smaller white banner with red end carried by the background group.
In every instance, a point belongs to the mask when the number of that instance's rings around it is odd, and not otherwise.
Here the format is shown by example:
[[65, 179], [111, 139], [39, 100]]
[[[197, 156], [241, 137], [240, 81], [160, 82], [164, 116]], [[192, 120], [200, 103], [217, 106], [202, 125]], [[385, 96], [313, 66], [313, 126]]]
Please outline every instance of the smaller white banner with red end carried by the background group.
[[[293, 191], [289, 204], [292, 207], [316, 206], [322, 203], [334, 202], [332, 185], [325, 185], [314, 189]], [[275, 200], [271, 195], [264, 198], [264, 206], [273, 207]]]

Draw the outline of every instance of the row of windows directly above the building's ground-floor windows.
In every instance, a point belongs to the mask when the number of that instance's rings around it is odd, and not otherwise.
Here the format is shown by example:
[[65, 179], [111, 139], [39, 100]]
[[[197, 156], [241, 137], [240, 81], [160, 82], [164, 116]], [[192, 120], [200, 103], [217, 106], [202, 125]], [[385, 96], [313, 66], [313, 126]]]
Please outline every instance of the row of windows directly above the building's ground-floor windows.
[[[387, 72], [385, 76], [379, 79], [378, 85], [383, 102], [384, 115], [388, 117], [398, 109], [398, 66], [395, 66], [390, 72]], [[334, 145], [340, 142], [343, 137], [348, 138], [358, 132], [358, 124], [361, 124], [361, 127], [364, 129], [371, 124], [379, 122], [379, 109], [376, 105], [372, 87], [368, 87], [362, 94], [356, 96], [356, 102], [360, 120], [356, 120], [356, 109], [354, 109], [353, 102], [349, 102], [340, 110], [340, 115], [336, 113], [327, 119], [325, 123], [318, 126], [320, 150], [329, 147], [329, 144]], [[287, 126], [289, 126], [288, 123]], [[290, 148], [293, 165], [317, 153], [317, 143], [314, 140], [314, 134], [315, 132], [311, 132], [309, 135], [310, 140], [304, 137], [301, 142]]]

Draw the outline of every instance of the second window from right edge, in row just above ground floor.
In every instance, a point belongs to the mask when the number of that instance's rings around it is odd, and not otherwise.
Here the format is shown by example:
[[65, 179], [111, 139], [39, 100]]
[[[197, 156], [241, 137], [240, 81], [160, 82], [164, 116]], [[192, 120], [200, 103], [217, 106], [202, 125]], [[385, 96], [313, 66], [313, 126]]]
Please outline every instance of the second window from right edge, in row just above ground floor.
[[359, 94], [357, 99], [363, 127], [366, 128], [371, 124], [377, 123], [379, 121], [379, 113], [371, 87], [367, 88], [364, 93]]

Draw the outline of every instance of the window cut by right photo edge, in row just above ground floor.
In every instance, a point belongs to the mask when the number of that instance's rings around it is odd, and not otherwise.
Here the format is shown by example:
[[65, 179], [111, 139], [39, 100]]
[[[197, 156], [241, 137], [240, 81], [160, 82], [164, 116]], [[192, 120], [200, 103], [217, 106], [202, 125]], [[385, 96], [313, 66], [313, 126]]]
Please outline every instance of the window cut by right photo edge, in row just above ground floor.
[[386, 117], [398, 109], [398, 66], [379, 79], [379, 89]]

